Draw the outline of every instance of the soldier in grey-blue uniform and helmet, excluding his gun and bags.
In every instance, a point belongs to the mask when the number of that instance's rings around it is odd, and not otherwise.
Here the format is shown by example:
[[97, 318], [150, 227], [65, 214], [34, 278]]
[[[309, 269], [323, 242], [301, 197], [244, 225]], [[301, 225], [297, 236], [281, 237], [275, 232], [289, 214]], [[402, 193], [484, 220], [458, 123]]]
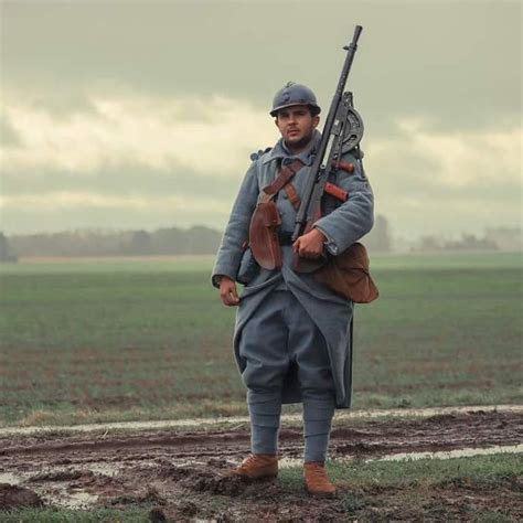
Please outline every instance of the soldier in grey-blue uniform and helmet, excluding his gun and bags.
[[[288, 83], [275, 96], [270, 115], [281, 134], [273, 149], [252, 157], [231, 212], [213, 269], [212, 281], [224, 305], [238, 307], [234, 351], [247, 387], [252, 453], [231, 471], [250, 479], [278, 473], [278, 430], [281, 404], [303, 404], [306, 488], [313, 495], [332, 495], [324, 461], [334, 408], [352, 403], [352, 348], [349, 325], [353, 303], [311, 274], [292, 269], [292, 255], [317, 258], [338, 255], [365, 235], [373, 224], [373, 193], [353, 149], [343, 161], [353, 172], [331, 172], [329, 181], [350, 193], [341, 203], [325, 195], [323, 215], [291, 244], [297, 200], [321, 139], [320, 107], [312, 90]], [[248, 248], [249, 223], [262, 189], [279, 170], [299, 159], [303, 167], [276, 195], [281, 217], [281, 269], [260, 268]], [[290, 185], [290, 184], [289, 184]], [[246, 247], [247, 246], [247, 247]], [[238, 296], [236, 281], [245, 285]]]

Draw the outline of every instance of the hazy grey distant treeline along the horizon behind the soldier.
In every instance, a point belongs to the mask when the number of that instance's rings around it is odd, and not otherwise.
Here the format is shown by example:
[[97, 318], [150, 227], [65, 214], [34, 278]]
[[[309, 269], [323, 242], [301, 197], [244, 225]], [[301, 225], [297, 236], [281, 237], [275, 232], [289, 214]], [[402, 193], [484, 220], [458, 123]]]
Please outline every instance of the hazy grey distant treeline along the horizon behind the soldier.
[[[147, 231], [66, 231], [6, 236], [0, 232], [0, 262], [13, 263], [18, 257], [34, 256], [152, 256], [183, 254], [215, 254], [222, 232], [205, 226], [189, 230], [178, 227]], [[461, 239], [449, 241], [438, 236], [423, 236], [415, 244], [393, 239], [388, 222], [377, 215], [374, 227], [362, 242], [370, 253], [391, 250], [521, 250], [520, 227], [487, 230], [483, 237], [463, 234]]]

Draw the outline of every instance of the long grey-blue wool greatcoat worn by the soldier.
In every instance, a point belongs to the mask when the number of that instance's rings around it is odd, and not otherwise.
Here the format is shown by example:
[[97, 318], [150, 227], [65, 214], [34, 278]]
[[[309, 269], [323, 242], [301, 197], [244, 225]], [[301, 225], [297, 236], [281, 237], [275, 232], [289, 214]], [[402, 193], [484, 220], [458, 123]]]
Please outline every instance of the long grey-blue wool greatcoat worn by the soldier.
[[[332, 377], [335, 386], [335, 405], [338, 408], [349, 408], [352, 404], [352, 348], [350, 346], [349, 325], [352, 318], [353, 303], [322, 284], [316, 281], [312, 275], [297, 274], [291, 268], [292, 247], [282, 246], [284, 266], [281, 271], [259, 269], [254, 276], [248, 275], [253, 267], [250, 249], [245, 250], [248, 239], [250, 217], [256, 207], [262, 189], [271, 183], [281, 161], [300, 158], [306, 166], [291, 180], [298, 194], [301, 195], [306, 177], [313, 161], [316, 147], [321, 138], [314, 131], [308, 150], [293, 157], [280, 139], [274, 149], [253, 161], [231, 212], [231, 217], [222, 238], [216, 263], [213, 269], [213, 285], [218, 287], [217, 276], [225, 275], [233, 280], [247, 284], [241, 293], [241, 303], [236, 312], [234, 333], [234, 352], [239, 371], [245, 370], [246, 362], [239, 355], [242, 331], [247, 321], [256, 321], [256, 309], [275, 289], [288, 289], [313, 318], [317, 327], [325, 339]], [[353, 151], [351, 151], [353, 152]], [[324, 196], [324, 215], [316, 226], [327, 236], [327, 249], [340, 254], [351, 244], [365, 235], [373, 225], [373, 193], [371, 185], [361, 169], [360, 162], [351, 153], [345, 153], [343, 160], [354, 164], [354, 172], [339, 170], [331, 173], [332, 183], [349, 191], [349, 200], [339, 202], [332, 196]], [[281, 215], [281, 230], [292, 232], [296, 211], [285, 191], [280, 191], [276, 204]], [[296, 375], [284, 385], [284, 403], [300, 402], [300, 389]], [[295, 377], [292, 377], [295, 376]]]

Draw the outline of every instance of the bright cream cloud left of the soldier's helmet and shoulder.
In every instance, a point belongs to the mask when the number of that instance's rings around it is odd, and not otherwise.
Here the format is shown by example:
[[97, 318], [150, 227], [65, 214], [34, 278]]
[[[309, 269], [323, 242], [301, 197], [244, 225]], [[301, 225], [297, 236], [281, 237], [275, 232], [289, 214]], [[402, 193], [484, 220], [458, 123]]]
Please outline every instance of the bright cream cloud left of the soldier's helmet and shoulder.
[[56, 115], [41, 105], [7, 103], [19, 147], [2, 148], [3, 169], [85, 175], [140, 163], [168, 175], [191, 169], [238, 179], [249, 152], [276, 138], [265, 111], [225, 97], [93, 95], [90, 104], [93, 111]]

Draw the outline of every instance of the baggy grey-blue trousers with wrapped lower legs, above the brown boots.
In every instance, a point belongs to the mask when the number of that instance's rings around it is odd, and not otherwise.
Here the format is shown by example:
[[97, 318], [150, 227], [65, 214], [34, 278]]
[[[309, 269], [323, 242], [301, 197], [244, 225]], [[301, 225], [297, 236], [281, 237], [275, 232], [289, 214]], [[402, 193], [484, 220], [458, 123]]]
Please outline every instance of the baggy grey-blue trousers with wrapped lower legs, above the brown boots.
[[277, 453], [284, 381], [297, 372], [303, 402], [306, 461], [324, 461], [334, 414], [334, 383], [323, 335], [289, 290], [270, 292], [242, 332], [252, 451]]

